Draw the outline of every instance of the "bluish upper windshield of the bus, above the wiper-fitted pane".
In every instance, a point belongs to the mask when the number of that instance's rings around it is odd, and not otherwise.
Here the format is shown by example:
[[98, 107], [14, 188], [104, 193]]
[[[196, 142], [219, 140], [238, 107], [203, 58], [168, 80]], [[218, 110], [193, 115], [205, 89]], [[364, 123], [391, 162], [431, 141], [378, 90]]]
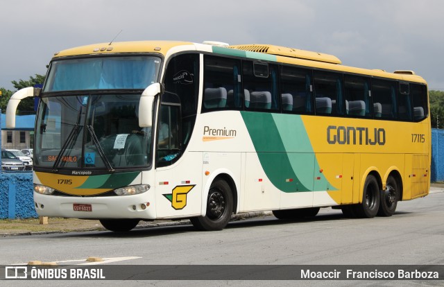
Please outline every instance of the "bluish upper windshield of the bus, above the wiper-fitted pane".
[[156, 82], [159, 67], [160, 58], [147, 55], [54, 60], [43, 92], [145, 89]]

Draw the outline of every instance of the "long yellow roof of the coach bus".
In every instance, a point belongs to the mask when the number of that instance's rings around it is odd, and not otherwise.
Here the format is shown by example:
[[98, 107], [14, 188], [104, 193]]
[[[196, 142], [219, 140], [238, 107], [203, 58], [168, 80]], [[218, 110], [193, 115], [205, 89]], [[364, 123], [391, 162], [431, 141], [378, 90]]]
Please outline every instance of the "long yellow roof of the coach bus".
[[[182, 46], [182, 48], [180, 47]], [[232, 55], [242, 58], [253, 58], [258, 60], [269, 60], [287, 64], [296, 64], [318, 69], [331, 69], [348, 73], [359, 73], [367, 76], [393, 78], [413, 82], [426, 83], [423, 78], [417, 76], [413, 71], [386, 72], [382, 69], [362, 69], [348, 67], [341, 64], [341, 60], [334, 55], [293, 49], [284, 46], [268, 44], [241, 44], [241, 45], [209, 45], [196, 44], [182, 41], [134, 41], [134, 42], [112, 42], [91, 44], [67, 49], [54, 54], [54, 59], [74, 55], [103, 55], [115, 53], [159, 53], [167, 55], [171, 49], [176, 51], [204, 51]]]

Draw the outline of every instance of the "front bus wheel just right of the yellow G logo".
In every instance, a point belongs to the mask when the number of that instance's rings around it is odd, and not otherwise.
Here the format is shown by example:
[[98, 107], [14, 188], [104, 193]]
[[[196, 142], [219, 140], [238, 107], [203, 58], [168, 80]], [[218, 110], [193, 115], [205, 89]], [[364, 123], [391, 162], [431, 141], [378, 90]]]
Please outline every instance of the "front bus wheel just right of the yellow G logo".
[[228, 225], [233, 212], [233, 195], [225, 180], [215, 180], [208, 193], [207, 214], [190, 218], [191, 223], [199, 230], [221, 230]]

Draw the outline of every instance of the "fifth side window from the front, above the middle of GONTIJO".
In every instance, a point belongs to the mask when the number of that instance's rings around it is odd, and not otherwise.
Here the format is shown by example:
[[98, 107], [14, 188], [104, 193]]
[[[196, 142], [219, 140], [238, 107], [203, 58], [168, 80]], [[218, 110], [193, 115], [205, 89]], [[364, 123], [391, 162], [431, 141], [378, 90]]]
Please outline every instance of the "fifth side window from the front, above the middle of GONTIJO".
[[345, 114], [350, 117], [370, 117], [370, 79], [360, 76], [344, 76]]

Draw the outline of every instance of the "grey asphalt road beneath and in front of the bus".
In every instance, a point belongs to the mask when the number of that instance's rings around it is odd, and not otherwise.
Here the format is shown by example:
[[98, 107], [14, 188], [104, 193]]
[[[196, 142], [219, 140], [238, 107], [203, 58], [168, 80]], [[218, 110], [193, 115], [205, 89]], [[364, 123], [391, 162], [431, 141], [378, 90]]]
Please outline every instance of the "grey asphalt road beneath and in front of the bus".
[[[273, 216], [230, 223], [221, 232], [189, 225], [135, 229], [129, 234], [81, 232], [0, 238], [0, 265], [29, 261], [119, 265], [444, 265], [444, 193], [400, 202], [389, 218], [348, 219], [321, 209], [311, 220]], [[6, 281], [35, 286], [44, 281]], [[53, 282], [53, 281], [51, 281]], [[62, 281], [78, 286], [77, 281]], [[81, 281], [105, 284], [105, 281]], [[119, 281], [107, 285], [121, 286]], [[15, 284], [12, 284], [15, 283]], [[46, 283], [50, 283], [46, 281]], [[11, 284], [11, 285], [9, 285]], [[127, 286], [444, 286], [444, 281], [126, 281]]]

